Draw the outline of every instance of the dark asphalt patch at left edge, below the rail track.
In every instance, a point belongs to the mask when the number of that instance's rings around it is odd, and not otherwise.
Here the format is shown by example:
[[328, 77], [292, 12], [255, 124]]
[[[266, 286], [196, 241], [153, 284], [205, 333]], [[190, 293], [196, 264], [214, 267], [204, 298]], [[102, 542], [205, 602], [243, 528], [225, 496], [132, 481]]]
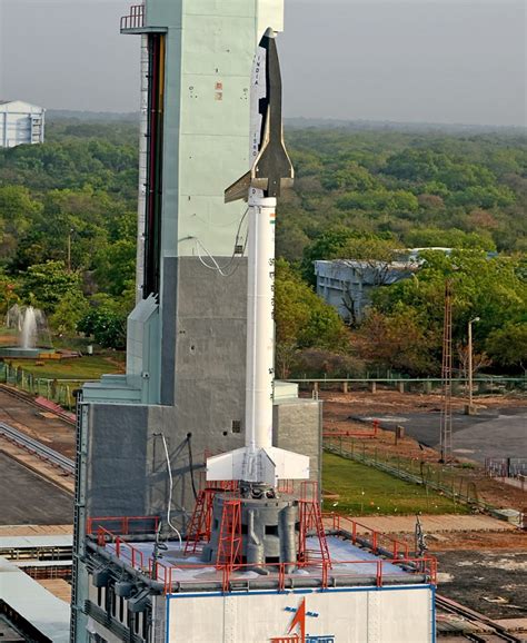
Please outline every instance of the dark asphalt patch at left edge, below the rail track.
[[1, 525], [73, 522], [73, 497], [0, 452]]

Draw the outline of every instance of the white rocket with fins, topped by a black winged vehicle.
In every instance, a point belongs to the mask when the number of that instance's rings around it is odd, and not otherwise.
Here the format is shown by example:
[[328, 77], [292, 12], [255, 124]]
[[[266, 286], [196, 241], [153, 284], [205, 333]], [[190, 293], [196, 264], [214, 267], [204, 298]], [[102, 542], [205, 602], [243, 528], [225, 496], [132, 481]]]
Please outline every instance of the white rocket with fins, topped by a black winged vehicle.
[[251, 81], [250, 170], [227, 188], [226, 202], [248, 200], [246, 445], [207, 461], [208, 481], [277, 486], [309, 477], [309, 458], [272, 446], [275, 390], [275, 221], [277, 197], [292, 186], [284, 142], [281, 77], [275, 32], [255, 56]]

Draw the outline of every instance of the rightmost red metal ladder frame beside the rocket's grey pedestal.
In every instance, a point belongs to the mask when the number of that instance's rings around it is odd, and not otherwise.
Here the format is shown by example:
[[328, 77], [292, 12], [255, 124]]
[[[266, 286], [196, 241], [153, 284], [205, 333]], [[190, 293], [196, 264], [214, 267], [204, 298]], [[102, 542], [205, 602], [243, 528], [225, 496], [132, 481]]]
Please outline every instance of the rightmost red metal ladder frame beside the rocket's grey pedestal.
[[[309, 494], [310, 491], [310, 494]], [[310, 495], [310, 497], [308, 497]], [[298, 501], [300, 528], [298, 534], [298, 563], [301, 566], [321, 565], [325, 570], [331, 568], [326, 530], [324, 528], [320, 503], [318, 501], [318, 485], [316, 482], [302, 483], [301, 497]], [[315, 532], [318, 547], [308, 547], [309, 534]]]

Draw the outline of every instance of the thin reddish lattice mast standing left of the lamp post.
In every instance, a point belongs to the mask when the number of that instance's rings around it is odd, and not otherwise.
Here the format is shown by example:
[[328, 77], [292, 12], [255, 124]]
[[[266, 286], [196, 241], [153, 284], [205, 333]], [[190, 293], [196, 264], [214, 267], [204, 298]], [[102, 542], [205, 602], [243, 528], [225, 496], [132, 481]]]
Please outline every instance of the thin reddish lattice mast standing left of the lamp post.
[[443, 404], [440, 418], [440, 463], [453, 462], [453, 286], [445, 281], [445, 322], [443, 327]]

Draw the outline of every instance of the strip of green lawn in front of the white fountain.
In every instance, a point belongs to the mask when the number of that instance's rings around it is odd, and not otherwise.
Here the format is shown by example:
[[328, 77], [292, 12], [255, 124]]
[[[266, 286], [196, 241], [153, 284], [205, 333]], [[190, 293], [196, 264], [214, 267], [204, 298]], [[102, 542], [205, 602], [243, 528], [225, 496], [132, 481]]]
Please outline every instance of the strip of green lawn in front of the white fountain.
[[[12, 366], [44, 379], [99, 379], [101, 375], [125, 372], [125, 356], [120, 354], [84, 355], [72, 359], [9, 359]], [[42, 364], [39, 366], [38, 364]]]

